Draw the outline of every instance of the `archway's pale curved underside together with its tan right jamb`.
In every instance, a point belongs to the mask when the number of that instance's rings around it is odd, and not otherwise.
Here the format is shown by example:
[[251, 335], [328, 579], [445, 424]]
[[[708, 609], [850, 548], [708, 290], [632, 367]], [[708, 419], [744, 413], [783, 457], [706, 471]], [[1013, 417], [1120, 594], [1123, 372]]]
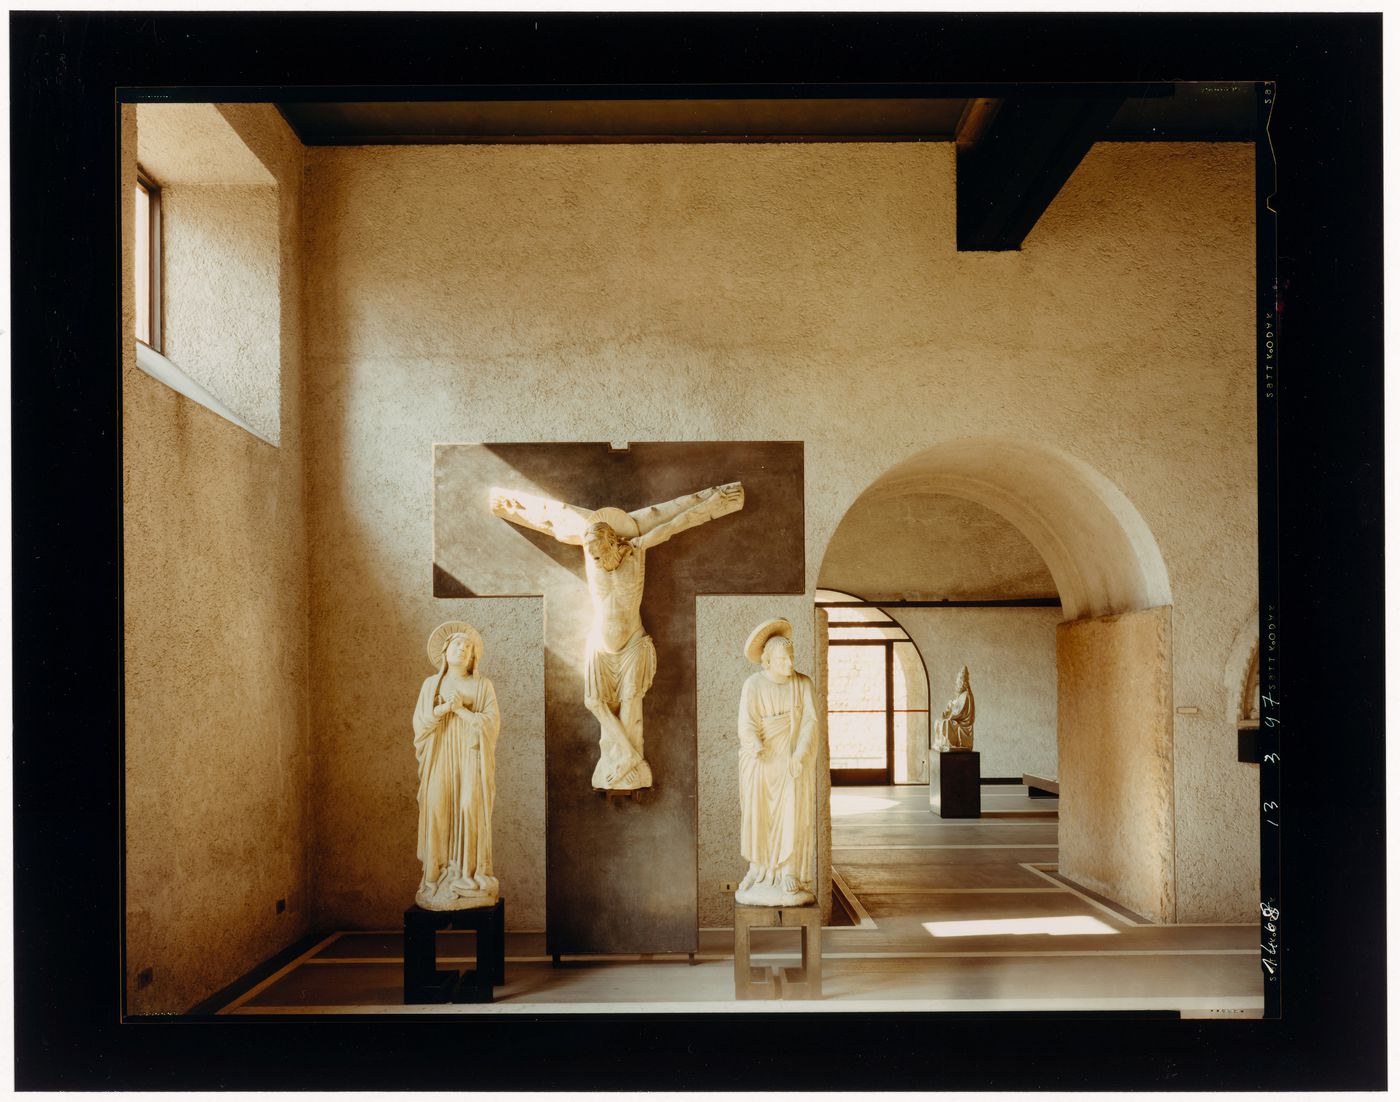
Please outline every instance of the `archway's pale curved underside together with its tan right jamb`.
[[1000, 514], [1058, 592], [1060, 871], [1155, 921], [1175, 921], [1172, 588], [1145, 518], [1082, 459], [1005, 437], [925, 448], [851, 507], [921, 494]]

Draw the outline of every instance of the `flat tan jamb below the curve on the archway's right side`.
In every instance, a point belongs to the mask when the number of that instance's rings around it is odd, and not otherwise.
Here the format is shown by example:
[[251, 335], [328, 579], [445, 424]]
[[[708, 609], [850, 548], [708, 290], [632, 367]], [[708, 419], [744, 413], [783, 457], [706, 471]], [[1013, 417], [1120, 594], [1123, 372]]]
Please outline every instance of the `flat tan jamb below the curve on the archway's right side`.
[[1172, 611], [1057, 633], [1060, 872], [1154, 921], [1176, 921]]

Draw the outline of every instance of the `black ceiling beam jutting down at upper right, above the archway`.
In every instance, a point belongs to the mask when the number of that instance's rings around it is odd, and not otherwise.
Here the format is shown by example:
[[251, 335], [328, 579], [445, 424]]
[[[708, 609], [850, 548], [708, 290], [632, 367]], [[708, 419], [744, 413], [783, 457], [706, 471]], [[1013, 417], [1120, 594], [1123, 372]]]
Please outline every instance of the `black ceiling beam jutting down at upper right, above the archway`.
[[990, 125], [958, 143], [958, 249], [1019, 249], [1123, 105], [1121, 95], [1001, 101]]

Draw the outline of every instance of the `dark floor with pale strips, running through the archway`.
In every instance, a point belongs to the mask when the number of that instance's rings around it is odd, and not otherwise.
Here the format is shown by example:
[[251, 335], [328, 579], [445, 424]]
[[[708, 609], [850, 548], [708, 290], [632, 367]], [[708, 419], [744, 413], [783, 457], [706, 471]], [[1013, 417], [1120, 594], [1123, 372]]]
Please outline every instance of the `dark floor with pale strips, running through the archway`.
[[[822, 1001], [734, 1000], [734, 934], [678, 956], [564, 958], [507, 934], [507, 983], [486, 1005], [403, 1005], [399, 931], [335, 934], [221, 1014], [812, 1012], [1168, 1010], [1259, 1017], [1259, 927], [1155, 926], [1058, 878], [1057, 801], [984, 786], [983, 818], [945, 821], [927, 788], [837, 788], [832, 865], [862, 912], [822, 935]], [[472, 934], [438, 935], [438, 966]], [[755, 963], [797, 962], [797, 931], [755, 931]]]

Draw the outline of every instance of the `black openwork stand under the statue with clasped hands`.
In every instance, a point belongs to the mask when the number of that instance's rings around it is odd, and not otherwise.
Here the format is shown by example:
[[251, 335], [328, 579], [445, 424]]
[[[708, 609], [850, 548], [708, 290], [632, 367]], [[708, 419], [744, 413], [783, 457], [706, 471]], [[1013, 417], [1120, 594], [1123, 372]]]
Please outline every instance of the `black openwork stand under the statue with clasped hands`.
[[[476, 933], [476, 968], [458, 973], [437, 966], [437, 931]], [[505, 899], [493, 907], [403, 912], [403, 1001], [490, 1003], [493, 987], [505, 983]]]

